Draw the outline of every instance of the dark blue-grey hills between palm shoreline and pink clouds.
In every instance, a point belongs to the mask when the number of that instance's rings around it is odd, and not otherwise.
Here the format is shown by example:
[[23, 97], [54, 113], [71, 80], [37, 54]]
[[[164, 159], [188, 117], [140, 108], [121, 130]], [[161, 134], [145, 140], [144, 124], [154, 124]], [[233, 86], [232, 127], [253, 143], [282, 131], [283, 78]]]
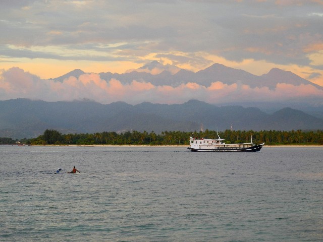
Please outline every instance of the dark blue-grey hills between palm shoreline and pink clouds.
[[0, 137], [32, 138], [46, 129], [61, 133], [96, 133], [131, 130], [199, 131], [209, 130], [317, 130], [323, 119], [303, 111], [282, 108], [267, 114], [255, 107], [216, 106], [190, 100], [183, 104], [125, 102], [100, 104], [94, 101], [45, 102], [11, 99], [0, 101]]

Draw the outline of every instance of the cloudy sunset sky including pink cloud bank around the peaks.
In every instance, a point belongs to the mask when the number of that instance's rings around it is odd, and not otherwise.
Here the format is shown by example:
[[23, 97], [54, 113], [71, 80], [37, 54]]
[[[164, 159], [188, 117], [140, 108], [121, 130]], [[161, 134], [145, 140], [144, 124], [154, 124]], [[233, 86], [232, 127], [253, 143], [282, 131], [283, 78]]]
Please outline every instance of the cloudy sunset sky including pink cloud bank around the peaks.
[[[221, 83], [174, 89], [106, 82], [95, 74], [125, 73], [152, 61], [193, 72], [220, 63], [254, 75], [280, 68], [323, 86], [322, 26], [322, 0], [1, 0], [0, 100], [182, 103], [214, 99], [225, 88], [228, 100], [237, 90], [259, 100], [323, 98], [310, 86], [280, 86], [274, 93]], [[92, 74], [48, 80], [74, 69]]]

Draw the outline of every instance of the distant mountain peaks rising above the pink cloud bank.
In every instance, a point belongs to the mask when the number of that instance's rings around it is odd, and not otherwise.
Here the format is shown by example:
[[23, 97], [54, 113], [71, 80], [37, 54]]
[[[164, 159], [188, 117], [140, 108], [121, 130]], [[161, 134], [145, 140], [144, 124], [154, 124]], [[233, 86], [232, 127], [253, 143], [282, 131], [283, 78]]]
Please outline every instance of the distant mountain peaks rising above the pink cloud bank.
[[[73, 76], [78, 78], [83, 74], [85, 74], [85, 72], [76, 69], [61, 77], [52, 78], [51, 80], [63, 82], [69, 77]], [[294, 86], [299, 86], [301, 84], [311, 85], [319, 90], [323, 90], [323, 87], [317, 84], [301, 78], [292, 72], [283, 71], [278, 68], [273, 68], [267, 74], [256, 76], [243, 70], [226, 67], [222, 64], [213, 64], [204, 70], [191, 72], [176, 66], [163, 65], [157, 61], [153, 61], [141, 68], [129, 70], [123, 74], [102, 72], [99, 73], [99, 75], [100, 78], [105, 81], [116, 79], [123, 84], [130, 84], [133, 80], [136, 80], [140, 82], [150, 82], [154, 86], [169, 85], [178, 87], [182, 84], [197, 83], [208, 87], [211, 83], [219, 81], [227, 85], [239, 83], [241, 85], [248, 85], [251, 88], [268, 87], [272, 90], [275, 89], [279, 83], [291, 84]]]

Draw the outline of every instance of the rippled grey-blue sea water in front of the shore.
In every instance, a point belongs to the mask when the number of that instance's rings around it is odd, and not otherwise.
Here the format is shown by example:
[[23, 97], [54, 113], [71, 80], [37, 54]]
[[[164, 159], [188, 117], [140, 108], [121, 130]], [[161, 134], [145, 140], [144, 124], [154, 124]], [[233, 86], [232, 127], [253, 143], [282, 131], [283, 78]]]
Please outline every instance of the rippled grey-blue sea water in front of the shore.
[[1, 241], [323, 241], [322, 148], [0, 146], [0, 167]]

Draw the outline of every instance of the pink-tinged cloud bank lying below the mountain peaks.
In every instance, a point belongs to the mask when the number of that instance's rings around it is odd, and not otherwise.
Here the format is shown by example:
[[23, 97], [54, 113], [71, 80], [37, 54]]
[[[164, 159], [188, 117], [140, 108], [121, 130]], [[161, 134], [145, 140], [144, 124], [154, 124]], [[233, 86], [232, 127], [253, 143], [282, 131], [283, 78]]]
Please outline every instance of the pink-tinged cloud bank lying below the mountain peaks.
[[111, 79], [105, 81], [98, 74], [84, 74], [69, 77], [63, 82], [41, 79], [20, 68], [3, 70], [0, 75], [0, 98], [41, 99], [45, 101], [69, 101], [75, 99], [92, 99], [108, 104], [125, 101], [138, 104], [144, 101], [152, 103], [183, 103], [198, 99], [208, 103], [221, 104], [241, 101], [287, 101], [292, 98], [323, 98], [323, 90], [312, 85], [293, 86], [278, 84], [276, 89], [251, 88], [241, 83], [232, 85], [214, 82], [209, 87], [197, 83], [182, 84], [177, 87], [168, 85], [155, 86], [151, 83], [133, 80], [129, 84]]

